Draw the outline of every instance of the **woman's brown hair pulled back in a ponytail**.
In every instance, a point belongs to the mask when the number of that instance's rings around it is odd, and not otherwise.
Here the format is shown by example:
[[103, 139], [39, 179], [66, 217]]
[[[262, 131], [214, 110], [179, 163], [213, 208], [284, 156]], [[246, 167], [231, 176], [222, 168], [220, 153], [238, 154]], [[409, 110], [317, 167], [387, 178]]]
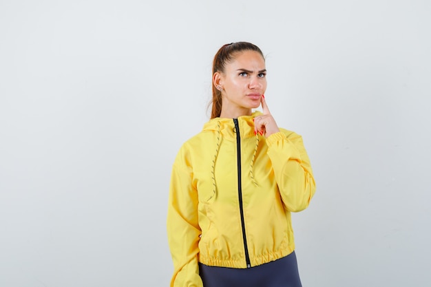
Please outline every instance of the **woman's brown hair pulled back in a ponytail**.
[[[224, 67], [227, 63], [233, 61], [235, 58], [235, 54], [243, 51], [255, 51], [262, 55], [262, 58], [265, 59], [264, 54], [256, 45], [248, 42], [236, 42], [230, 43], [226, 45], [222, 45], [220, 49], [215, 53], [213, 60], [213, 75], [215, 72], [224, 73]], [[217, 89], [214, 83], [211, 81], [213, 87], [213, 98], [211, 100], [210, 105], [211, 108], [211, 118], [217, 118], [220, 116], [222, 112], [222, 92]]]

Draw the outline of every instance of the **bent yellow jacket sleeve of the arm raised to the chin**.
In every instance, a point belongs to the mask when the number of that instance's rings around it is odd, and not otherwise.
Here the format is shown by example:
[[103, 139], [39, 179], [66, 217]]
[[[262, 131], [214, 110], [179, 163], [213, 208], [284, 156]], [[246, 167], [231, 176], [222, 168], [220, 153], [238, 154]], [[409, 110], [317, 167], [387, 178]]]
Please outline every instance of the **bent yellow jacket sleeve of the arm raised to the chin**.
[[286, 210], [298, 212], [306, 209], [316, 186], [302, 136], [281, 129], [266, 138], [266, 143]]

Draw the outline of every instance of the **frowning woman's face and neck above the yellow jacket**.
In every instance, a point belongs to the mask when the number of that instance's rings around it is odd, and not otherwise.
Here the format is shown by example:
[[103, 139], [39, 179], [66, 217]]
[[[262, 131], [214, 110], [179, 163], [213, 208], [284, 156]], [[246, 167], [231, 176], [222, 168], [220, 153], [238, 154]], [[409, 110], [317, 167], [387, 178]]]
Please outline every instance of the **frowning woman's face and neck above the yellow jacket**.
[[[216, 75], [217, 74], [217, 75]], [[223, 118], [250, 115], [260, 105], [266, 90], [266, 68], [262, 55], [243, 51], [225, 65], [224, 73], [214, 74], [214, 83], [221, 85]]]

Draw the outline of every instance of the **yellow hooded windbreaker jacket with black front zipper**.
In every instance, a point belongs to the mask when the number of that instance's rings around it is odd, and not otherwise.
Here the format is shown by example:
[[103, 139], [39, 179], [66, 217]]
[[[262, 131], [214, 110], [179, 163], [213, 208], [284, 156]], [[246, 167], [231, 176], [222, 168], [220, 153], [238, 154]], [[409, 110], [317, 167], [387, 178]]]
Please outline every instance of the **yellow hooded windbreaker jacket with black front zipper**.
[[167, 213], [171, 286], [202, 287], [198, 262], [249, 268], [293, 252], [291, 212], [310, 203], [313, 171], [301, 136], [254, 134], [258, 114], [213, 118], [178, 152]]

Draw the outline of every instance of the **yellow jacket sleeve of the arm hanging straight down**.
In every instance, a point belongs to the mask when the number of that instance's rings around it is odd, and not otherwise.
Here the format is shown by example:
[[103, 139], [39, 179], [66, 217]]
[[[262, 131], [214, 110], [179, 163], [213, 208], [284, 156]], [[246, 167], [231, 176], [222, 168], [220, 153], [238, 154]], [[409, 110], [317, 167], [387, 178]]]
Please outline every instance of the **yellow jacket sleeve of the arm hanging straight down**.
[[167, 237], [174, 262], [171, 287], [202, 287], [198, 267], [198, 193], [193, 172], [180, 151], [174, 162], [169, 186]]

